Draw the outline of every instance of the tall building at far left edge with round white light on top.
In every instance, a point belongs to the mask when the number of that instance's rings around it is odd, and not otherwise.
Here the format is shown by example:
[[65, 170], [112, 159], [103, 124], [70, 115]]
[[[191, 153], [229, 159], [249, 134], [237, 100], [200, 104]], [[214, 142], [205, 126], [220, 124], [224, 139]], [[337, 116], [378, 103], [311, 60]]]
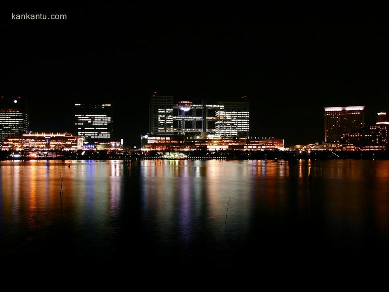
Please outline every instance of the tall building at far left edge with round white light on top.
[[0, 99], [0, 142], [28, 131], [28, 102], [17, 96], [1, 96]]

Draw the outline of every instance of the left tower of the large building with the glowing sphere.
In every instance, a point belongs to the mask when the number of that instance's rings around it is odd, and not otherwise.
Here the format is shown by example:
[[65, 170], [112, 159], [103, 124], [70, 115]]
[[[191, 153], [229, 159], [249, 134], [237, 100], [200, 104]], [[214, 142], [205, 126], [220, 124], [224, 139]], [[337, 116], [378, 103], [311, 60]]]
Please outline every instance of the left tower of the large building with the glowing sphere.
[[173, 131], [173, 96], [154, 93], [149, 103], [149, 133], [171, 133]]

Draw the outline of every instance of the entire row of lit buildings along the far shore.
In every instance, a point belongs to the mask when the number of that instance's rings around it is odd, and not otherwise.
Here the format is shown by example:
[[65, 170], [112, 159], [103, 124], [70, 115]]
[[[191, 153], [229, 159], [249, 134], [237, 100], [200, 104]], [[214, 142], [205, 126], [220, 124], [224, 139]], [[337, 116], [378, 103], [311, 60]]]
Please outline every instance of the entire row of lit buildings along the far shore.
[[375, 124], [366, 125], [364, 105], [324, 107], [324, 141], [286, 147], [283, 137], [250, 136], [250, 105], [246, 96], [236, 101], [194, 103], [155, 92], [149, 102], [149, 131], [140, 135], [140, 147], [130, 147], [123, 145], [123, 139], [113, 139], [112, 107], [110, 101], [80, 100], [74, 103], [74, 124], [69, 125], [69, 131], [34, 132], [29, 125], [27, 99], [1, 96], [1, 150], [19, 151], [22, 153], [12, 153], [31, 157], [40, 156], [42, 151], [47, 154], [47, 150], [364, 151], [386, 150], [389, 141], [387, 113], [375, 113]]

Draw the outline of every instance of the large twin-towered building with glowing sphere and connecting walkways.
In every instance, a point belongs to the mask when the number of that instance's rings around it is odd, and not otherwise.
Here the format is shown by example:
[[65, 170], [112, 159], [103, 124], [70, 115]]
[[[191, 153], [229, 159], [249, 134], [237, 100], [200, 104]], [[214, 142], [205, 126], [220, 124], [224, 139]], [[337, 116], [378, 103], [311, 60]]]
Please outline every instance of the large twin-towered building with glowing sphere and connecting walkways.
[[195, 134], [233, 138], [249, 134], [249, 103], [173, 103], [172, 96], [153, 95], [149, 108], [150, 134]]

